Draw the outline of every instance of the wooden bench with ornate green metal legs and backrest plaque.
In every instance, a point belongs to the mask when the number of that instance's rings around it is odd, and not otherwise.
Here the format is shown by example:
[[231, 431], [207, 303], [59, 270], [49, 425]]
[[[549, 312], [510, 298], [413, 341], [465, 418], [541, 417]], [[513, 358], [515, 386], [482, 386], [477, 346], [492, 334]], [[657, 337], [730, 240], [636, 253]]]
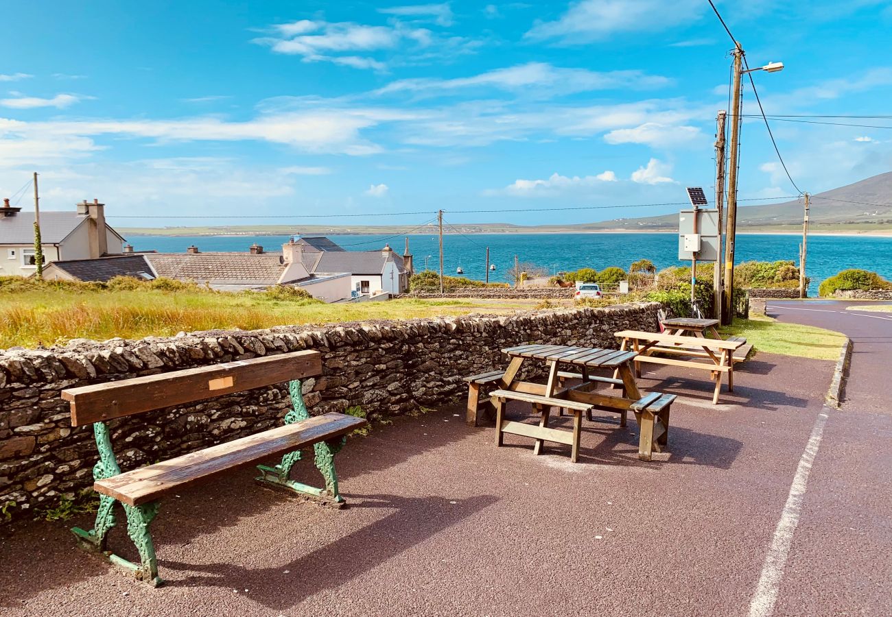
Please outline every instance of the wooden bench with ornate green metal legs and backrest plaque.
[[[158, 576], [149, 524], [158, 514], [160, 499], [235, 467], [275, 457], [282, 457], [277, 465], [259, 465], [258, 481], [332, 506], [343, 506], [335, 473], [335, 454], [348, 433], [367, 423], [362, 418], [334, 412], [310, 417], [301, 395], [301, 379], [321, 372], [318, 351], [308, 350], [62, 391], [62, 399], [70, 401], [71, 425], [93, 424], [99, 450], [99, 461], [93, 468], [93, 489], [100, 493], [99, 511], [92, 530], [78, 527], [71, 530], [78, 537], [78, 543], [107, 556], [112, 564], [132, 572], [137, 580], [157, 587], [162, 580]], [[285, 415], [284, 426], [120, 472], [107, 421], [283, 382], [288, 382], [293, 407]], [[309, 446], [313, 446], [316, 466], [325, 478], [324, 489], [288, 477], [294, 463], [301, 458], [301, 448]], [[117, 522], [113, 512], [116, 503], [127, 514], [128, 535], [136, 545], [140, 564], [107, 550], [108, 532]]]

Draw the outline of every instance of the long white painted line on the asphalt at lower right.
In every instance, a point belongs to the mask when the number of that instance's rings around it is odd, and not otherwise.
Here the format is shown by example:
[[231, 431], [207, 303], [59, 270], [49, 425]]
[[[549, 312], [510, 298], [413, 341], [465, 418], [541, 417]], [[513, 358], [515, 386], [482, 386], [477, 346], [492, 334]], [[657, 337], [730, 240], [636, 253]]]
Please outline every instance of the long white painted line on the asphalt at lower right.
[[749, 617], [771, 617], [774, 613], [774, 603], [777, 601], [780, 579], [783, 576], [784, 566], [787, 564], [789, 547], [793, 542], [793, 534], [799, 524], [799, 515], [802, 514], [802, 501], [805, 498], [805, 487], [808, 483], [808, 474], [812, 471], [814, 457], [818, 454], [824, 425], [827, 424], [826, 411], [818, 415], [814, 421], [812, 434], [808, 438], [805, 452], [799, 459], [796, 475], [793, 476], [793, 484], [789, 488], [789, 497], [780, 514], [780, 521], [774, 530], [772, 546], [765, 556], [762, 567], [762, 575], [756, 586], [756, 595], [749, 603]]

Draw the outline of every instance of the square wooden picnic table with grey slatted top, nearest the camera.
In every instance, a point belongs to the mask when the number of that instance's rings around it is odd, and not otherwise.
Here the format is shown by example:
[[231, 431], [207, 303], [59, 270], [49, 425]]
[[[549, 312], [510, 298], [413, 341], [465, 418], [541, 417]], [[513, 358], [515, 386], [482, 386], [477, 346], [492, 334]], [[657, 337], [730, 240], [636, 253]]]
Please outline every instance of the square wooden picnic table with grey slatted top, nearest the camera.
[[[632, 369], [632, 360], [638, 356], [637, 352], [545, 344], [519, 345], [502, 352], [511, 358], [504, 371], [491, 371], [466, 378], [469, 384], [468, 424], [471, 424], [472, 413], [476, 419], [480, 388], [485, 384], [495, 384], [499, 388], [490, 393], [495, 407], [497, 446], [502, 445], [505, 433], [533, 438], [533, 454], [537, 455], [541, 453], [545, 441], [563, 443], [571, 447], [570, 457], [575, 463], [579, 456], [582, 413], [591, 420], [592, 409], [621, 415], [621, 426], [625, 426], [625, 417], [630, 410], [635, 414], [640, 427], [640, 459], [651, 460], [653, 450], [660, 452], [665, 446], [669, 431], [669, 410], [675, 396], [661, 392], [644, 395], [640, 393]], [[517, 374], [527, 361], [543, 362], [548, 366], [546, 383], [517, 379]], [[559, 370], [561, 365], [573, 366], [578, 373], [562, 372]], [[598, 369], [615, 370], [618, 378], [592, 374]], [[567, 379], [579, 379], [581, 383], [565, 387]], [[595, 392], [593, 390], [598, 383], [619, 384], [623, 394], [609, 396]], [[506, 419], [505, 405], [508, 400], [532, 403], [533, 408], [541, 414], [538, 426]], [[566, 409], [574, 415], [572, 432], [549, 427], [552, 407]]]

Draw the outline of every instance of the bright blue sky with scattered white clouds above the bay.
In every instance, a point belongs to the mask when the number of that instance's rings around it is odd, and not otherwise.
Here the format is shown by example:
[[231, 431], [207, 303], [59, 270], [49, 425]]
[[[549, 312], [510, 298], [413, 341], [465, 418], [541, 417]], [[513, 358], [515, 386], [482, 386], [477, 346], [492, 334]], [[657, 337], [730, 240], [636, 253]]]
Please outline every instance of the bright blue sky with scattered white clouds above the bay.
[[[753, 74], [767, 114], [888, 112], [892, 2], [716, 5], [751, 67], [785, 64]], [[714, 191], [732, 44], [706, 0], [32, 0], [4, 25], [0, 197], [26, 210], [33, 171], [42, 208], [115, 226], [581, 223]], [[892, 169], [892, 119], [814, 120], [871, 127], [772, 120], [801, 190]], [[740, 198], [796, 195], [762, 120], [741, 135]]]

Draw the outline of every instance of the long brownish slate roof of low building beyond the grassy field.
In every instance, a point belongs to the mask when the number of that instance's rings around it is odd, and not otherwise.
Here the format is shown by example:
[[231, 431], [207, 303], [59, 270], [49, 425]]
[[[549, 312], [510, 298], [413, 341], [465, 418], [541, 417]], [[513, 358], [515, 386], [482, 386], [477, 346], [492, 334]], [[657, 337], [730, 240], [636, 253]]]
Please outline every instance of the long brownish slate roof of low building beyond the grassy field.
[[157, 253], [145, 259], [158, 276], [210, 284], [274, 285], [285, 269], [280, 255]]

